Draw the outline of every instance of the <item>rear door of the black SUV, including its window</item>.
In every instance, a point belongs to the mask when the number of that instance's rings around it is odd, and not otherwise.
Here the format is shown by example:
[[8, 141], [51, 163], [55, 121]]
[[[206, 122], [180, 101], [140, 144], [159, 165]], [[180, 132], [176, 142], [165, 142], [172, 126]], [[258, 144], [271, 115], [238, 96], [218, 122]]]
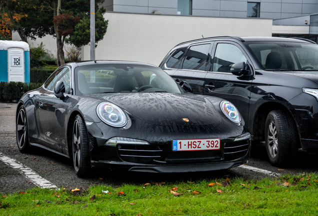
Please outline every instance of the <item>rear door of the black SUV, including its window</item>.
[[190, 45], [179, 68], [172, 74], [174, 79], [189, 83], [194, 94], [203, 94], [206, 68], [209, 68], [210, 48], [210, 42]]

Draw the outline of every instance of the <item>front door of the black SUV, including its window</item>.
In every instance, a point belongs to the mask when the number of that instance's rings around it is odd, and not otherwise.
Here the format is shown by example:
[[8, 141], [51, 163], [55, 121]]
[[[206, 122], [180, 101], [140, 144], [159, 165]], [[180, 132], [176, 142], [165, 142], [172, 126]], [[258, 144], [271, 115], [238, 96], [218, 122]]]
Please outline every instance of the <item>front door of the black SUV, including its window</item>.
[[247, 69], [251, 70], [245, 51], [237, 43], [217, 41], [211, 55], [212, 64], [204, 79], [204, 94], [229, 100], [237, 107], [246, 122], [253, 75], [237, 76], [230, 72], [231, 66], [241, 61], [244, 61]]

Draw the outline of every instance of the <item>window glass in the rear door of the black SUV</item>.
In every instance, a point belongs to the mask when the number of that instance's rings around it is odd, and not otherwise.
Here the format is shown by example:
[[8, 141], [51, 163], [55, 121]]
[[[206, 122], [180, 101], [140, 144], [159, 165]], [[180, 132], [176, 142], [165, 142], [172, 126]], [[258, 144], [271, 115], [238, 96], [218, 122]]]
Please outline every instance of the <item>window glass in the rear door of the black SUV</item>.
[[186, 52], [182, 69], [204, 70], [210, 44], [190, 46]]

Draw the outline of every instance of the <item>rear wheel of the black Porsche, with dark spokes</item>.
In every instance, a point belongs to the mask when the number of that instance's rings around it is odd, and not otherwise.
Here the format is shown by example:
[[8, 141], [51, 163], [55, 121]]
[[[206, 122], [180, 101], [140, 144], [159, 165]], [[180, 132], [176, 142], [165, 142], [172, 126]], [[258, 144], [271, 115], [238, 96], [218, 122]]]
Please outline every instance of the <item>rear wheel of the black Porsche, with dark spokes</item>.
[[24, 105], [18, 109], [16, 122], [16, 143], [20, 152], [27, 152], [30, 148], [28, 140], [28, 127]]

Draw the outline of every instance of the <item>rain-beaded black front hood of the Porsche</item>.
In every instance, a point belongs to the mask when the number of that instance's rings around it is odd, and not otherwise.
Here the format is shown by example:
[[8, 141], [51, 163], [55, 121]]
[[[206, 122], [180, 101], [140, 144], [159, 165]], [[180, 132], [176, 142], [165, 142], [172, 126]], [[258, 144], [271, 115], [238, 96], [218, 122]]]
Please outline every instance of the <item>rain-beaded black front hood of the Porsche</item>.
[[201, 125], [220, 122], [220, 116], [213, 104], [200, 95], [144, 92], [107, 93], [96, 96], [120, 106], [128, 113], [151, 124]]

